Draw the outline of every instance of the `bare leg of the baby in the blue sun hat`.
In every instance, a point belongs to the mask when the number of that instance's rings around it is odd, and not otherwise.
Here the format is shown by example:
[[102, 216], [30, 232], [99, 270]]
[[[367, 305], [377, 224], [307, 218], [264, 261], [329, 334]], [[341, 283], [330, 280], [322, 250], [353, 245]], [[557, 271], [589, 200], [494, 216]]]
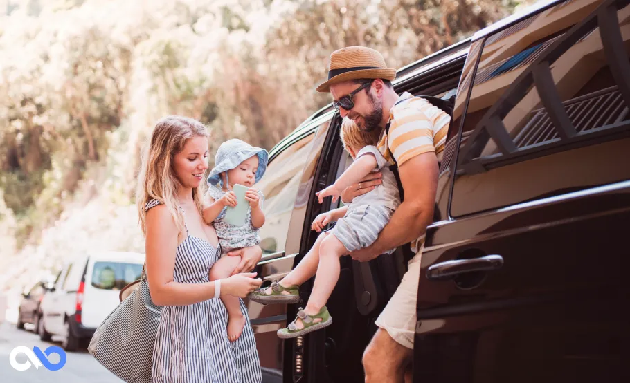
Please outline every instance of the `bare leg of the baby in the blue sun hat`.
[[[240, 256], [222, 256], [222, 258], [219, 259], [219, 261], [216, 261], [213, 267], [210, 268], [210, 281], [230, 277], [240, 261]], [[241, 312], [238, 297], [224, 295], [221, 297], [221, 300], [228, 312], [228, 339], [230, 339], [231, 342], [234, 342], [238, 339], [238, 337], [240, 337], [243, 331], [245, 326], [245, 316]]]

